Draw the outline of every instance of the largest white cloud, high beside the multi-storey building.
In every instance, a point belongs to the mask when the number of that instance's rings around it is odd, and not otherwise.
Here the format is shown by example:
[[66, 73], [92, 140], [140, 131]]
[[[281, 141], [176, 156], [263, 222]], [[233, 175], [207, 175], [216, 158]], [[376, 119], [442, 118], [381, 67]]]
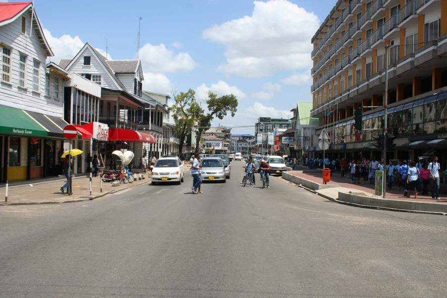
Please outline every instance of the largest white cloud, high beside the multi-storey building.
[[215, 25], [202, 35], [227, 47], [226, 64], [218, 70], [262, 77], [309, 68], [310, 39], [318, 26], [315, 14], [290, 1], [255, 1], [251, 16]]

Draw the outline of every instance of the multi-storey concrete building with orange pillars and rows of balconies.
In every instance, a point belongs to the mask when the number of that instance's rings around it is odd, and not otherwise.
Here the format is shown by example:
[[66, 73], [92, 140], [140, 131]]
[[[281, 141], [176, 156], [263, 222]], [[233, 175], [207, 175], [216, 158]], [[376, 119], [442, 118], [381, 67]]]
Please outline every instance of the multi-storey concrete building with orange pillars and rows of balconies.
[[[319, 118], [317, 134], [329, 133], [329, 154], [378, 157], [374, 137], [386, 128], [396, 137], [388, 158], [436, 153], [447, 160], [446, 36], [444, 0], [335, 3], [311, 53], [311, 116]], [[361, 131], [354, 125], [358, 107]]]

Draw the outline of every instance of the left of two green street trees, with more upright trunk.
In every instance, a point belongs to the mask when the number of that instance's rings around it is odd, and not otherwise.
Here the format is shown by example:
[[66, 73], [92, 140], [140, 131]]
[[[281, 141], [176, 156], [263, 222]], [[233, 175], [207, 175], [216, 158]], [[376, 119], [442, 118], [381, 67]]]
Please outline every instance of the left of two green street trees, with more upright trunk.
[[171, 111], [175, 122], [174, 131], [180, 140], [178, 151], [182, 152], [183, 142], [196, 124], [195, 120], [203, 115], [204, 110], [196, 101], [196, 92], [189, 89], [187, 92], [175, 95]]

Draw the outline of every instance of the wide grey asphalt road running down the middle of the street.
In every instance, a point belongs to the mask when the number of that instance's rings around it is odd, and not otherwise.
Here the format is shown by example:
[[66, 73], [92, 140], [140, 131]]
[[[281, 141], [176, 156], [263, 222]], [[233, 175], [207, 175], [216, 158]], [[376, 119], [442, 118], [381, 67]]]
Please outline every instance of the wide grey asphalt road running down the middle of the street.
[[0, 297], [446, 297], [447, 218], [333, 203], [273, 177], [0, 208]]

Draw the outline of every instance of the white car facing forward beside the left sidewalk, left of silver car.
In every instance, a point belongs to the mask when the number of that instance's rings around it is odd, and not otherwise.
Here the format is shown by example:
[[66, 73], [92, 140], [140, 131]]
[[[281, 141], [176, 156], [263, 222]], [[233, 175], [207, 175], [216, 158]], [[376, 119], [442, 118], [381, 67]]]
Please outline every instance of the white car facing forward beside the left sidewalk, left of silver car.
[[161, 157], [151, 167], [151, 184], [162, 182], [176, 182], [181, 184], [185, 177], [183, 162], [178, 157]]

